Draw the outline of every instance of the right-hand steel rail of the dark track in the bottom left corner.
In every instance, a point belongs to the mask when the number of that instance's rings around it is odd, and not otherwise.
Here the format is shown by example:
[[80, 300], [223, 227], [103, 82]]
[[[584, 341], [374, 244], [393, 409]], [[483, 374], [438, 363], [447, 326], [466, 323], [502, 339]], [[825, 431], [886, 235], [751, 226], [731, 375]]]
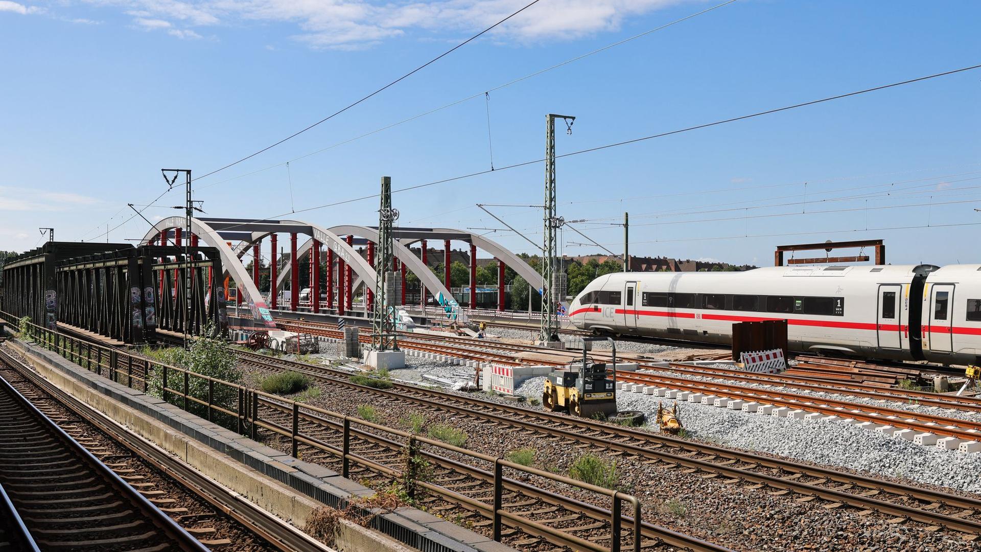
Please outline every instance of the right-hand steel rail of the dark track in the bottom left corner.
[[61, 442], [62, 446], [72, 451], [84, 464], [88, 465], [98, 473], [109, 485], [111, 485], [120, 495], [122, 495], [136, 510], [138, 510], [147, 521], [154, 524], [164, 535], [167, 536], [181, 550], [207, 552], [209, 548], [201, 544], [190, 533], [184, 530], [167, 514], [153, 505], [146, 497], [129, 485], [115, 471], [103, 464], [99, 459], [81, 446], [71, 435], [65, 432], [50, 417], [38, 410], [24, 395], [21, 394], [13, 385], [3, 377], [0, 377], [0, 389], [14, 398], [26, 410], [26, 413], [36, 418], [48, 431]]

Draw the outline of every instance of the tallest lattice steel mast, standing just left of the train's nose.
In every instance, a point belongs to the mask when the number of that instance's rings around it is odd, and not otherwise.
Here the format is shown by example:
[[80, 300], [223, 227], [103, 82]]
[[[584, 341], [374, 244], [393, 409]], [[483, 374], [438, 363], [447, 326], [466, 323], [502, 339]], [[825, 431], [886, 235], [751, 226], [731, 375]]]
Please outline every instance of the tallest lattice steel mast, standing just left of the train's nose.
[[562, 217], [555, 216], [555, 119], [565, 120], [568, 134], [572, 134], [572, 123], [576, 120], [571, 115], [545, 115], [545, 209], [544, 209], [544, 255], [542, 258], [542, 341], [558, 341], [557, 304], [561, 298], [556, 297], [557, 270], [560, 270], [555, 252], [558, 249], [558, 229], [565, 222]]

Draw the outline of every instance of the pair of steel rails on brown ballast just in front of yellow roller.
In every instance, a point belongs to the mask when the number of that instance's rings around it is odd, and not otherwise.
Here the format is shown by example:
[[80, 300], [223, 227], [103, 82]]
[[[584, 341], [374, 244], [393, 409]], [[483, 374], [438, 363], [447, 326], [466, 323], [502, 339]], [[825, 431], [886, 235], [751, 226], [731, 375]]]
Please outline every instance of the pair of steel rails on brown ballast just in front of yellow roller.
[[[267, 359], [267, 360], [270, 359], [269, 357], [264, 357], [255, 354], [244, 354], [244, 355], [250, 355], [260, 359]], [[314, 371], [326, 371], [334, 375], [341, 375], [344, 377], [350, 375], [349, 373], [344, 372], [342, 370], [336, 370], [333, 368], [328, 368], [326, 366], [313, 366], [310, 364], [303, 364], [301, 362], [293, 362], [284, 359], [275, 359], [275, 360], [285, 365], [293, 366], [294, 368], [305, 366], [305, 367], [313, 368]], [[686, 458], [683, 456], [679, 456], [677, 454], [659, 452], [653, 448], [645, 448], [644, 446], [640, 446], [640, 445], [632, 445], [629, 443], [612, 441], [609, 439], [608, 435], [612, 434], [619, 437], [626, 437], [631, 440], [639, 440], [642, 443], [654, 444], [655, 446], [666, 445], [670, 447], [676, 447], [680, 449], [689, 450], [694, 453], [701, 453], [713, 457], [722, 457], [728, 460], [745, 462], [749, 465], [763, 466], [772, 469], [782, 469], [791, 472], [799, 472], [802, 474], [818, 477], [819, 479], [829, 479], [836, 482], [854, 484], [868, 489], [881, 489], [891, 494], [896, 494], [899, 496], [910, 496], [919, 500], [929, 501], [931, 503], [933, 502], [945, 503], [950, 506], [955, 506], [958, 508], [981, 510], [981, 500], [979, 499], [960, 497], [950, 493], [943, 493], [943, 492], [933, 491], [930, 489], [910, 487], [909, 485], [892, 483], [890, 481], [886, 481], [883, 479], [847, 473], [836, 469], [808, 466], [808, 465], [804, 465], [784, 459], [773, 459], [773, 458], [764, 457], [764, 456], [747, 453], [743, 451], [731, 450], [723, 447], [717, 447], [714, 445], [707, 445], [707, 444], [695, 443], [692, 441], [686, 441], [676, 437], [669, 437], [666, 435], [659, 435], [655, 433], [647, 433], [636, 429], [631, 429], [628, 427], [610, 426], [607, 424], [602, 424], [599, 422], [595, 422], [583, 418], [572, 418], [560, 414], [544, 413], [544, 412], [531, 411], [528, 409], [522, 409], [519, 407], [513, 407], [508, 405], [499, 405], [496, 403], [490, 403], [475, 398], [462, 397], [459, 395], [451, 395], [448, 393], [443, 393], [430, 389], [422, 389], [409, 385], [402, 385], [402, 384], [395, 383], [393, 384], [393, 386], [395, 387], [394, 390], [381, 390], [368, 386], [358, 385], [345, 380], [338, 380], [335, 377], [329, 377], [326, 375], [322, 375], [321, 377], [327, 380], [332, 380], [334, 382], [339, 382], [351, 388], [359, 389], [361, 391], [366, 391], [368, 393], [385, 395], [391, 399], [395, 399], [399, 401], [411, 400], [418, 404], [437, 408], [440, 410], [454, 412], [457, 414], [466, 414], [471, 416], [483, 417], [485, 419], [489, 419], [497, 423], [518, 425], [523, 428], [531, 429], [547, 435], [558, 435], [573, 441], [588, 443], [600, 448], [610, 448], [625, 453], [630, 453], [636, 456], [660, 460], [667, 464], [681, 465], [681, 466], [686, 466], [688, 468], [694, 468], [694, 469], [699, 469], [708, 472], [725, 474], [739, 479], [769, 485], [779, 489], [792, 490], [794, 492], [798, 492], [803, 495], [818, 496], [832, 502], [841, 502], [860, 508], [871, 508], [879, 512], [883, 512], [893, 516], [901, 516], [904, 518], [916, 520], [927, 524], [938, 524], [942, 526], [955, 528], [957, 530], [961, 530], [964, 532], [981, 533], [981, 522], [976, 522], [970, 519], [959, 519], [953, 516], [938, 514], [928, 510], [876, 500], [871, 497], [858, 496], [852, 493], [844, 492], [843, 490], [825, 489], [813, 484], [802, 483], [800, 481], [796, 481], [793, 479], [787, 479], [784, 477], [777, 477], [777, 476], [767, 475], [763, 473], [755, 473], [749, 471], [748, 469], [734, 468], [731, 466], [722, 466], [706, 460]], [[441, 403], [433, 399], [413, 397], [412, 395], [409, 394], [409, 392], [414, 394], [432, 395], [432, 396], [439, 397], [440, 399], [443, 400], [451, 400], [456, 403], [461, 403], [462, 405], [453, 406], [446, 403]], [[496, 411], [504, 411], [509, 414], [518, 414], [518, 415], [526, 416], [529, 419], [516, 419], [501, 414], [480, 412], [474, 410], [473, 409], [474, 406], [483, 407], [486, 409], [490, 409], [492, 411], [496, 410]], [[567, 429], [542, 426], [542, 420], [549, 421], [549, 422], [556, 422], [564, 425], [578, 426], [580, 428], [592, 430], [600, 434], [606, 433], [607, 436], [587, 435], [584, 433], [570, 431]]]

